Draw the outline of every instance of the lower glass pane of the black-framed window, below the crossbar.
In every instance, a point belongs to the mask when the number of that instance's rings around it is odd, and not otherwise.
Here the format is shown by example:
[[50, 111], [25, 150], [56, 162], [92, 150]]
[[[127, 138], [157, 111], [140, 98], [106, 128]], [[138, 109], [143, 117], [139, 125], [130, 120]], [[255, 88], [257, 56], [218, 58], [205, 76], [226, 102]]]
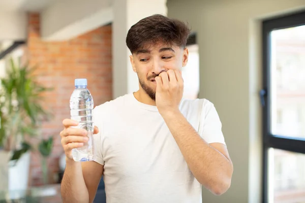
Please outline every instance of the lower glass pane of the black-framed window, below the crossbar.
[[268, 202], [305, 202], [305, 154], [273, 148], [268, 153]]

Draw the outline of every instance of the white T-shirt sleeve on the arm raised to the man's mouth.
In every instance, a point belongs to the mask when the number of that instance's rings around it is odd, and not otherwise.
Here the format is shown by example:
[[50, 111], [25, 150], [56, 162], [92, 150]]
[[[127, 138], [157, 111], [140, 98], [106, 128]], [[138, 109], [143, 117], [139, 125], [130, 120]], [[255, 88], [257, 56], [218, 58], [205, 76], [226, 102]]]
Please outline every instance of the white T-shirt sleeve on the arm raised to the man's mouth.
[[205, 142], [226, 145], [222, 132], [222, 123], [214, 105], [204, 99], [199, 120], [198, 133]]

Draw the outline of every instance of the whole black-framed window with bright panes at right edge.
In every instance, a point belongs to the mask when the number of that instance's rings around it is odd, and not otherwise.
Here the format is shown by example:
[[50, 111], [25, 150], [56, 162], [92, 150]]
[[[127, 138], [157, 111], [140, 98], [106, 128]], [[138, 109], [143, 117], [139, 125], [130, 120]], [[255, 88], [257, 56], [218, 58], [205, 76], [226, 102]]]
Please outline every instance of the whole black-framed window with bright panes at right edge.
[[263, 202], [305, 202], [305, 12], [263, 22]]

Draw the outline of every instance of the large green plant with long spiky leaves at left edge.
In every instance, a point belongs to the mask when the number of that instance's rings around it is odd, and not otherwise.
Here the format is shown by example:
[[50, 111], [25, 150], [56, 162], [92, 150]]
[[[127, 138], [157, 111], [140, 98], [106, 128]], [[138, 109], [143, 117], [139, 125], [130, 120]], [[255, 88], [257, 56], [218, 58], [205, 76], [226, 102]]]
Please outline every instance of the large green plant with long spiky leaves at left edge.
[[42, 94], [51, 88], [37, 82], [35, 70], [28, 65], [18, 67], [10, 59], [6, 77], [1, 79], [0, 148], [13, 151], [11, 160], [18, 160], [33, 148], [25, 137], [38, 136], [41, 121], [50, 116], [42, 107]]

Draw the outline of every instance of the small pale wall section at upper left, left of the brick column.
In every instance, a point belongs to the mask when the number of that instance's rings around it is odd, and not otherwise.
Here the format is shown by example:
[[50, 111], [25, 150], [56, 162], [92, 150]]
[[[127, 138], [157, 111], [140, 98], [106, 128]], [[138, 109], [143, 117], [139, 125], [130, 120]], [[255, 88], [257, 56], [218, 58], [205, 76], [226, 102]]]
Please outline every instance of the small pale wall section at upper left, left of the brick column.
[[0, 12], [0, 41], [26, 39], [26, 13], [21, 11]]

